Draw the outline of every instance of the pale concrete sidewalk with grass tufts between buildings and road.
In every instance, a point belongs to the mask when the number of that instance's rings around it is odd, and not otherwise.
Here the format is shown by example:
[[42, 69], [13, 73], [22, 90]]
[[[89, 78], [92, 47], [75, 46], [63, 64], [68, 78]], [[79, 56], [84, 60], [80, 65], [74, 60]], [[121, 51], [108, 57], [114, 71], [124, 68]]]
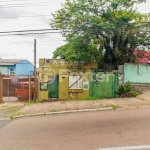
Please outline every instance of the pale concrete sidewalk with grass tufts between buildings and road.
[[145, 92], [135, 98], [114, 98], [90, 101], [54, 101], [29, 104], [25, 102], [13, 101], [0, 104], [0, 118], [10, 118], [10, 116], [48, 114], [61, 112], [96, 111], [110, 110], [118, 108], [141, 108], [150, 107], [150, 92]]

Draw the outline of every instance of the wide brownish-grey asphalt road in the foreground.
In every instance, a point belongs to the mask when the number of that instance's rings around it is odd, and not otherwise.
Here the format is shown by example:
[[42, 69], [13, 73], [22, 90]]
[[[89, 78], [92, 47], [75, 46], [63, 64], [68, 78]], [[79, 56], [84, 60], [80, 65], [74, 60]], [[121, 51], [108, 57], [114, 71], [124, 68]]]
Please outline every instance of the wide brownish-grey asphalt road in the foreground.
[[0, 150], [150, 149], [150, 109], [0, 121]]

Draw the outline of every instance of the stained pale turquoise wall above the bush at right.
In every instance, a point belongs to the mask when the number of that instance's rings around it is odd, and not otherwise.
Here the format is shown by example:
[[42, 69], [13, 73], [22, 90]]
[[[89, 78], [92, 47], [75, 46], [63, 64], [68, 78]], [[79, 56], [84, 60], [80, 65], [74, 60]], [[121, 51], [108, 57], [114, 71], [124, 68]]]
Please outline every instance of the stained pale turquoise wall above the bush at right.
[[124, 64], [124, 82], [150, 83], [150, 65]]

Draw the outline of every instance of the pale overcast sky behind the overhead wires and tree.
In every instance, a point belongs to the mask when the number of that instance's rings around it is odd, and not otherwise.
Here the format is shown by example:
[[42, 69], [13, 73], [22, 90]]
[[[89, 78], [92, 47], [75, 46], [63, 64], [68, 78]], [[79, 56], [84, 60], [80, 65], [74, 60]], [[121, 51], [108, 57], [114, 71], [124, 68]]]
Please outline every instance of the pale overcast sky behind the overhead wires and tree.
[[[8, 31], [51, 29], [51, 13], [61, 8], [65, 0], [0, 0], [0, 58], [28, 59], [34, 62], [34, 39], [39, 58], [52, 58], [53, 51], [65, 44], [60, 33], [8, 35]], [[150, 0], [138, 7], [150, 12]], [[45, 31], [47, 32], [47, 31]], [[1, 36], [6, 35], [7, 36]]]

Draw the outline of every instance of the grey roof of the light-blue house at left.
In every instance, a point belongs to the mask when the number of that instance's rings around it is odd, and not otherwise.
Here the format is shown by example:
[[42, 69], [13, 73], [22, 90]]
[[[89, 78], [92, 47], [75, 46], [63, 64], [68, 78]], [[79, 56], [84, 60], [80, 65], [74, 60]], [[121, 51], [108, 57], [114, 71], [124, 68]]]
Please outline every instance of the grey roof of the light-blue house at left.
[[25, 59], [0, 59], [0, 65], [4, 65], [4, 66], [12, 66], [15, 65], [21, 61], [24, 61]]

